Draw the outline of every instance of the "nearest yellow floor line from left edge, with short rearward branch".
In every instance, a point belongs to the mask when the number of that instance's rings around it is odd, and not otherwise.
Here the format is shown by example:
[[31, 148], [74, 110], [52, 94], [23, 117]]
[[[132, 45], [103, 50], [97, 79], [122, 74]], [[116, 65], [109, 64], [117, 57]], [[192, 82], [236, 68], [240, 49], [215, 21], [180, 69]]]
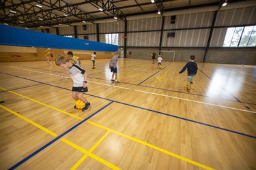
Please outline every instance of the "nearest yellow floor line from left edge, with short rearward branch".
[[[30, 124], [33, 124], [34, 126], [38, 127], [39, 129], [41, 129], [42, 131], [45, 131], [46, 133], [53, 135], [54, 137], [57, 137], [58, 135], [56, 133], [53, 133], [52, 131], [46, 129], [44, 126], [41, 126], [40, 124], [37, 124], [35, 122], [33, 122], [32, 120], [29, 120], [28, 118], [14, 112], [12, 109], [9, 109], [8, 107], [5, 107], [3, 105], [0, 105], [1, 108], [5, 109], [6, 111], [14, 114], [15, 116], [18, 116], [19, 118], [29, 122]], [[110, 131], [107, 131], [103, 137], [100, 138], [100, 140], [94, 144], [94, 146], [91, 148], [91, 152], [100, 144], [100, 142], [107, 136], [109, 135]], [[61, 141], [68, 143], [68, 145], [72, 146], [73, 148], [76, 148], [76, 150], [79, 150], [80, 152], [83, 152], [84, 154], [87, 154], [88, 156], [90, 156], [91, 158], [94, 158], [95, 160], [98, 160], [98, 162], [106, 165], [107, 167], [110, 167], [111, 169], [120, 169], [119, 167], [116, 167], [115, 165], [107, 162], [106, 160], [100, 158], [99, 156], [96, 156], [95, 154], [92, 154], [91, 152], [81, 148], [80, 146], [77, 146], [76, 144], [72, 143], [72, 141], [69, 141], [68, 139], [64, 139], [61, 138]]]

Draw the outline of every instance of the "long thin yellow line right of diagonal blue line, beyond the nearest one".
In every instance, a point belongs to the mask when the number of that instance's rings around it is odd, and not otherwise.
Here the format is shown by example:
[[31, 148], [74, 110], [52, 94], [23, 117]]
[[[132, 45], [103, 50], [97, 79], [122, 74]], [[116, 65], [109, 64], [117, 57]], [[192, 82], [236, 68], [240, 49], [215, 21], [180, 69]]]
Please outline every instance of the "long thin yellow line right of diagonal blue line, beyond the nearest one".
[[120, 135], [120, 136], [122, 136], [122, 137], [126, 137], [126, 138], [128, 138], [128, 139], [130, 139], [130, 140], [132, 140], [132, 141], [136, 141], [137, 143], [141, 143], [141, 144], [143, 144], [144, 146], [148, 146], [148, 147], [150, 147], [150, 148], [153, 148], [153, 149], [158, 150], [158, 151], [160, 151], [160, 152], [163, 152], [163, 153], [165, 153], [165, 154], [169, 154], [169, 155], [171, 155], [171, 156], [173, 156], [173, 157], [175, 157], [175, 158], [179, 158], [179, 159], [181, 159], [181, 160], [184, 160], [184, 161], [186, 161], [187, 163], [191, 163], [191, 164], [193, 164], [193, 165], [196, 165], [197, 167], [201, 167], [201, 168], [203, 168], [203, 169], [210, 169], [210, 170], [213, 170], [211, 167], [207, 167], [207, 166], [205, 166], [205, 165], [202, 165], [201, 163], [197, 163], [197, 162], [195, 162], [194, 160], [190, 160], [190, 159], [188, 159], [188, 158], [185, 158], [185, 157], [183, 157], [183, 156], [174, 154], [174, 153], [169, 152], [169, 151], [167, 151], [167, 150], [164, 150], [164, 149], [162, 149], [162, 148], [158, 148], [157, 146], [153, 146], [153, 145], [150, 144], [150, 143], [147, 143], [147, 142], [145, 142], [145, 141], [141, 141], [141, 140], [136, 139], [136, 138], [134, 138], [134, 137], [130, 137], [130, 136], [128, 136], [128, 135], [125, 135], [124, 133], [119, 133], [119, 132], [117, 132], [117, 131], [114, 131], [114, 130], [112, 130], [112, 129], [109, 129], [109, 128], [107, 128], [107, 127], [105, 127], [105, 126], [102, 126], [102, 125], [100, 125], [100, 124], [97, 124], [97, 123], [95, 123], [95, 122], [91, 122], [91, 121], [89, 121], [89, 120], [87, 120], [86, 122], [88, 122], [89, 124], [93, 124], [94, 126], [98, 126], [98, 127], [102, 128], [102, 129], [105, 129], [105, 130], [107, 130], [107, 131], [111, 131], [112, 133], [115, 133], [115, 134]]

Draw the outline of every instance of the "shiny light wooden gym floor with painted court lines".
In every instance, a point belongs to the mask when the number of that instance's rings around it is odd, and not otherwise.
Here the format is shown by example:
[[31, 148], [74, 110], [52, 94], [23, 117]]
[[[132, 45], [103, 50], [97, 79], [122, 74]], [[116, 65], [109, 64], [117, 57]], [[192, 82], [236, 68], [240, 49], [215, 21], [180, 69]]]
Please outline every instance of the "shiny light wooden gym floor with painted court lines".
[[256, 67], [81, 61], [92, 107], [73, 109], [67, 70], [0, 63], [0, 169], [256, 169]]

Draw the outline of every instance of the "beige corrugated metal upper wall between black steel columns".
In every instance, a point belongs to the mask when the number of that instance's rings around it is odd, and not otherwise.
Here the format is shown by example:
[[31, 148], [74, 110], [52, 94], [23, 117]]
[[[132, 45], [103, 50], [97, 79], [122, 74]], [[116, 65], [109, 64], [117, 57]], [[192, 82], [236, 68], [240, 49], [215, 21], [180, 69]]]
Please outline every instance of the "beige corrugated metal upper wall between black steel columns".
[[[203, 48], [208, 43], [210, 27], [214, 12], [200, 12], [195, 14], [182, 14], [175, 18], [171, 24], [171, 16], [165, 17], [162, 35], [162, 47], [195, 47]], [[128, 47], [158, 47], [160, 44], [160, 29], [162, 18], [144, 18], [127, 21]], [[220, 10], [214, 25], [210, 47], [222, 47], [227, 27], [256, 24], [256, 7], [240, 7], [231, 10]], [[97, 41], [96, 24], [86, 24], [76, 27], [78, 38]], [[124, 21], [106, 22], [99, 24], [100, 42], [105, 42], [105, 33], [119, 33], [119, 46], [124, 46]], [[174, 32], [175, 37], [167, 37], [167, 33]], [[55, 34], [55, 29], [50, 29]], [[59, 27], [59, 35], [73, 35], [74, 27]]]

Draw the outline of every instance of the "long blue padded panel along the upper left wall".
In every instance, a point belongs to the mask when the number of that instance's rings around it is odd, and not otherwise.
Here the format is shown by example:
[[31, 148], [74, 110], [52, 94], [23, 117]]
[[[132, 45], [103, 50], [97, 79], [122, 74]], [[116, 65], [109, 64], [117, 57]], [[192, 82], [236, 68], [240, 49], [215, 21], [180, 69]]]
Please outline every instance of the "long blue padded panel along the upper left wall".
[[0, 44], [9, 46], [28, 46], [35, 48], [60, 48], [72, 50], [91, 50], [115, 52], [117, 46], [96, 41], [87, 41], [50, 33], [40, 33], [27, 29], [0, 24]]

